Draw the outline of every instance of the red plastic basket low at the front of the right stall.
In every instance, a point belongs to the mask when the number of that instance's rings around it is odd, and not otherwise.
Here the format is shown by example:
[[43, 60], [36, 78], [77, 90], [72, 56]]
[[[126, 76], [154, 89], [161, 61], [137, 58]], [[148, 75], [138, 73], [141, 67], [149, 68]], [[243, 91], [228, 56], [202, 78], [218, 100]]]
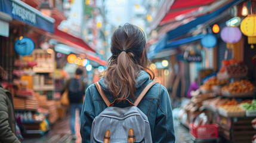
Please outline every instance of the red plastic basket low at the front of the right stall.
[[218, 138], [218, 125], [209, 124], [195, 127], [193, 123], [189, 125], [190, 134], [196, 139]]

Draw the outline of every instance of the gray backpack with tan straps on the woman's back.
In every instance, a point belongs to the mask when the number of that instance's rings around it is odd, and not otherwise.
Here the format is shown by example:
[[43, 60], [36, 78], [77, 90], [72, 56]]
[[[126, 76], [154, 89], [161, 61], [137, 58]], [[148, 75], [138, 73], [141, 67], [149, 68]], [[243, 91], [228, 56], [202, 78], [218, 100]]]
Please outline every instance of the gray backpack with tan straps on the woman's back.
[[141, 92], [134, 104], [127, 100], [130, 107], [119, 108], [113, 107], [107, 99], [98, 82], [95, 83], [98, 92], [107, 105], [92, 122], [91, 142], [152, 142], [150, 125], [147, 116], [137, 107], [144, 95], [156, 82], [150, 82], [149, 85]]

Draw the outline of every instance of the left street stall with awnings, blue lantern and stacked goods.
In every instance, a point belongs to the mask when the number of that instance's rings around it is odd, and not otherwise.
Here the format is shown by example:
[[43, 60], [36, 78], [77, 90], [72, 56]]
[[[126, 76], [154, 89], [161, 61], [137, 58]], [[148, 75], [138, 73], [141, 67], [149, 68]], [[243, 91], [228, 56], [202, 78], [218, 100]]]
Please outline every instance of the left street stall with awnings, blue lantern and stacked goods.
[[38, 1], [1, 0], [0, 4], [0, 63], [9, 75], [2, 83], [13, 94], [21, 134], [43, 136], [66, 117], [60, 91], [67, 77], [61, 70], [67, 56], [76, 54], [71, 62], [76, 66], [86, 67], [89, 61], [106, 66], [106, 61], [82, 39], [57, 29], [66, 19], [58, 8], [47, 13]]

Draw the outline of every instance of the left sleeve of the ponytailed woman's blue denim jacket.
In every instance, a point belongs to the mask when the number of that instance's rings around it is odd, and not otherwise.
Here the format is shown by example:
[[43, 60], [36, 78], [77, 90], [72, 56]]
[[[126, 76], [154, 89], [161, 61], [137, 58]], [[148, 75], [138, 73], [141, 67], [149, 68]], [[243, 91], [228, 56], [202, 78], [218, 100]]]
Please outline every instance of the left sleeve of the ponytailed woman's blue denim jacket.
[[80, 133], [81, 133], [83, 143], [90, 142], [91, 125], [95, 117], [92, 95], [93, 95], [93, 90], [92, 90], [92, 86], [90, 86], [89, 88], [87, 88], [87, 91], [85, 92], [85, 100], [84, 100], [81, 117], [80, 117], [80, 120], [81, 120]]

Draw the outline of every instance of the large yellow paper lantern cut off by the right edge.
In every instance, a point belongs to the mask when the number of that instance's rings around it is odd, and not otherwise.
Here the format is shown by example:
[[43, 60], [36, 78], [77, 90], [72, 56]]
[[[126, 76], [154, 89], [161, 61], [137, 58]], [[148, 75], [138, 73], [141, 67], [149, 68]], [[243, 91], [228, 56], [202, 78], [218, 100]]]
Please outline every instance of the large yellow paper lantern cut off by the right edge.
[[[255, 44], [256, 43], [256, 15], [248, 15], [240, 26], [241, 32], [248, 36], [248, 43]], [[254, 45], [251, 45], [251, 48], [254, 48]]]

